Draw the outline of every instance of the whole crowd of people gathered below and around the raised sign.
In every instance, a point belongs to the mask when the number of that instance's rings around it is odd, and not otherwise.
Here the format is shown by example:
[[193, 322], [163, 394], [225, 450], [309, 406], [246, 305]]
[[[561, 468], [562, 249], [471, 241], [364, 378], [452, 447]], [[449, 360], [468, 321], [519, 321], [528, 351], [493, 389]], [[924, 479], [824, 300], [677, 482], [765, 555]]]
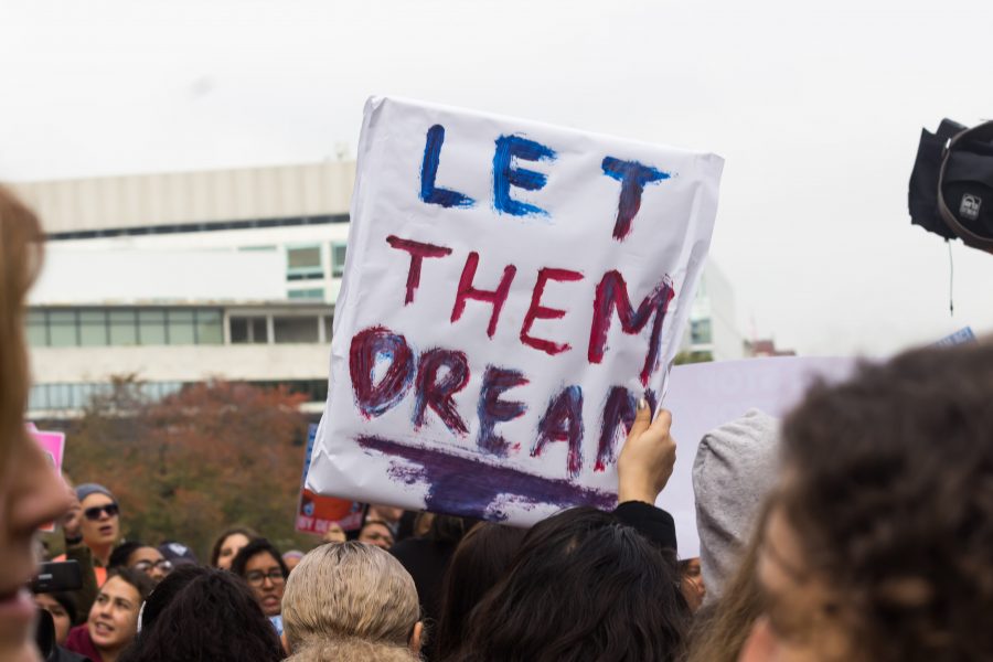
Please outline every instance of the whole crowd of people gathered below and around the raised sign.
[[[373, 505], [306, 553], [233, 525], [200, 564], [177, 542], [122, 540], [111, 491], [70, 489], [28, 436], [24, 301], [43, 238], [0, 189], [0, 660], [993, 659], [989, 343], [865, 363], [781, 421], [749, 412], [707, 435], [698, 559], [680, 559], [654, 505], [673, 414], [642, 399], [611, 512], [523, 530]], [[52, 521], [79, 581], [32, 596]]]

